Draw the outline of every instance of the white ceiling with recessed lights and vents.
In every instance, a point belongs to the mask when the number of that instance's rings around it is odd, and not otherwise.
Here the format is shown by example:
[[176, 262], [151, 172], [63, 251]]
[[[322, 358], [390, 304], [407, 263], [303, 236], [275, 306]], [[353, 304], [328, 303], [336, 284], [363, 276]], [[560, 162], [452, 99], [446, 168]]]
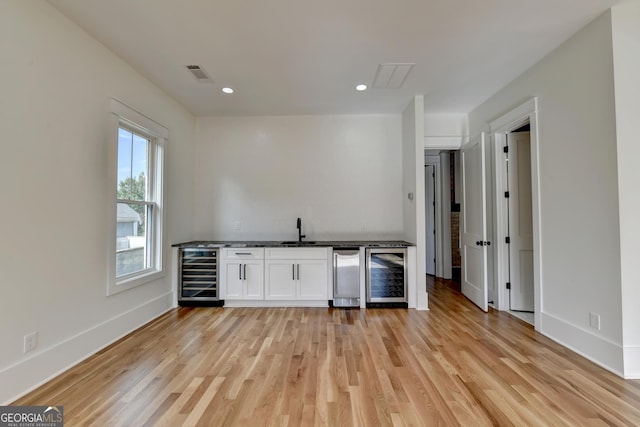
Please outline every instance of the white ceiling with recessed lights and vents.
[[[194, 114], [229, 116], [399, 113], [418, 94], [468, 112], [619, 1], [49, 2]], [[402, 88], [354, 90], [389, 62], [416, 64]]]

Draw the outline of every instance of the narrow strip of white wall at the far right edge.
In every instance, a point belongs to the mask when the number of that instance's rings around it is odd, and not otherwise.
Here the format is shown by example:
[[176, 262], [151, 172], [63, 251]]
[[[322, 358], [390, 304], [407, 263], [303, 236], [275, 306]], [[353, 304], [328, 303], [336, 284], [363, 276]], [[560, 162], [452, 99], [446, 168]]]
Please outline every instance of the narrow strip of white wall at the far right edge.
[[624, 373], [640, 378], [640, 2], [612, 9], [613, 58], [618, 137], [618, 197], [620, 199], [620, 252]]

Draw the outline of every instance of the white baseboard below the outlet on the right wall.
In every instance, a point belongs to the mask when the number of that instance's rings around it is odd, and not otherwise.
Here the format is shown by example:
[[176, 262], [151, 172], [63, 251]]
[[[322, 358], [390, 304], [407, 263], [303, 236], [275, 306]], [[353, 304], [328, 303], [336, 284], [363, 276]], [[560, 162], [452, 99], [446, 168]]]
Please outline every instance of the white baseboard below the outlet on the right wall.
[[557, 343], [575, 351], [596, 365], [624, 377], [622, 345], [599, 337], [549, 313], [540, 313], [536, 329]]

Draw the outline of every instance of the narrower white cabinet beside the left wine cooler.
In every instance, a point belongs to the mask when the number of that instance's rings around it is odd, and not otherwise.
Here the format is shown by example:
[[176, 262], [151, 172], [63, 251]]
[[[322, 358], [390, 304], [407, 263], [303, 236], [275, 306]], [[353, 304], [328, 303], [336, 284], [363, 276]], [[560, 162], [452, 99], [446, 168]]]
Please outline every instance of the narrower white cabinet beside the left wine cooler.
[[222, 268], [224, 299], [264, 299], [263, 248], [226, 248], [222, 254]]

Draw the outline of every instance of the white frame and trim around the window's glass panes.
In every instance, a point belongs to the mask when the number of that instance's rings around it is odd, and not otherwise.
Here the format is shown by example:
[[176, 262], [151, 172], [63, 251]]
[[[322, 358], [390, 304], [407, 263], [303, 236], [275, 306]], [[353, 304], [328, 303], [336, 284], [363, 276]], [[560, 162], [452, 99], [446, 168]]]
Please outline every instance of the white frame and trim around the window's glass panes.
[[[169, 131], [164, 126], [123, 104], [111, 99], [111, 114], [108, 129], [108, 179], [107, 179], [107, 295], [114, 295], [128, 289], [149, 283], [165, 275], [163, 256], [164, 220], [164, 154]], [[153, 205], [152, 217], [147, 218], [151, 230], [146, 230], [147, 251], [151, 267], [120, 277], [116, 276], [116, 228], [118, 199], [118, 133], [123, 128], [149, 140], [149, 198]]]

